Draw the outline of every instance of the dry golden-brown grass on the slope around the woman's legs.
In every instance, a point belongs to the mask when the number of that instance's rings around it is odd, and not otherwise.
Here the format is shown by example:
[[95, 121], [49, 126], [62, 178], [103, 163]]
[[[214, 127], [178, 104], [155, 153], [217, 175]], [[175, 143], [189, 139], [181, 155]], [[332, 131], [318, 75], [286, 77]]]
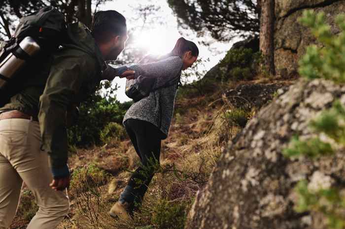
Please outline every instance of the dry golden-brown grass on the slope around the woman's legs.
[[[240, 130], [224, 120], [222, 114], [229, 108], [218, 99], [221, 93], [177, 101], [169, 138], [162, 143], [161, 170], [154, 176], [140, 210], [130, 222], [108, 215], [130, 177], [129, 171], [139, 165], [129, 139], [87, 150], [75, 149], [70, 157], [74, 175], [90, 164], [100, 173], [88, 173], [80, 178], [80, 187], [71, 186], [71, 211], [59, 229], [180, 227], [196, 192], [207, 182], [228, 140]], [[87, 187], [83, 189], [82, 185]]]

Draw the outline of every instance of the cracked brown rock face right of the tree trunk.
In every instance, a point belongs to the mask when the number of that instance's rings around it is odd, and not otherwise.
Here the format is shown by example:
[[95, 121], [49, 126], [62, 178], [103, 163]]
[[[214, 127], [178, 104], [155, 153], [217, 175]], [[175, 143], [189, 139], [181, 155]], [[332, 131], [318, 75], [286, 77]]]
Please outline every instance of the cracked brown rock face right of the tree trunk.
[[338, 33], [334, 19], [336, 15], [345, 12], [345, 1], [276, 0], [275, 67], [277, 74], [283, 78], [297, 73], [298, 60], [305, 54], [307, 46], [315, 43], [311, 32], [298, 23], [305, 9], [325, 12], [333, 33]]

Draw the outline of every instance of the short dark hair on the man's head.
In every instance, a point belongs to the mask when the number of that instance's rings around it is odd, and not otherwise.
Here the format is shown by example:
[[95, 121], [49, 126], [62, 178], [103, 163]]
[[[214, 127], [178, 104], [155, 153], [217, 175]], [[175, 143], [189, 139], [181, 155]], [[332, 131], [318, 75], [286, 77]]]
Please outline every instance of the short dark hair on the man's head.
[[127, 35], [126, 18], [115, 10], [97, 12], [91, 25], [96, 42], [107, 42], [112, 35]]

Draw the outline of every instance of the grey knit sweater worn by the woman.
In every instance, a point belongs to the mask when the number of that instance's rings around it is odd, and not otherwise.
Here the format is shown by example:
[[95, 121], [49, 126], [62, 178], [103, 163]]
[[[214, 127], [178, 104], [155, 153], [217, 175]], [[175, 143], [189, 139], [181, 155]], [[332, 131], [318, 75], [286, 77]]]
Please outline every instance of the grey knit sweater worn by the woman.
[[[136, 77], [144, 75], [157, 78], [154, 88], [158, 88], [169, 80], [180, 77], [182, 64], [180, 57], [167, 57], [157, 62], [132, 65], [129, 68], [136, 71]], [[134, 103], [126, 112], [123, 123], [130, 118], [148, 121], [157, 126], [163, 133], [162, 139], [166, 139], [173, 117], [177, 85], [178, 83], [152, 91], [149, 96]]]

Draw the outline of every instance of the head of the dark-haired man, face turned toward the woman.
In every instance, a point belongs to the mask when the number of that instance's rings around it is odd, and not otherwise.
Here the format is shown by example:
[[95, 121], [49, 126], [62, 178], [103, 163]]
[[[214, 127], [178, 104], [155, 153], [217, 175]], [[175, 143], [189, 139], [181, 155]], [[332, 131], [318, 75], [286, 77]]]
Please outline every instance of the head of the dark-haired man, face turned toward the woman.
[[92, 34], [104, 59], [116, 59], [128, 39], [126, 18], [115, 10], [99, 11], [91, 26]]

